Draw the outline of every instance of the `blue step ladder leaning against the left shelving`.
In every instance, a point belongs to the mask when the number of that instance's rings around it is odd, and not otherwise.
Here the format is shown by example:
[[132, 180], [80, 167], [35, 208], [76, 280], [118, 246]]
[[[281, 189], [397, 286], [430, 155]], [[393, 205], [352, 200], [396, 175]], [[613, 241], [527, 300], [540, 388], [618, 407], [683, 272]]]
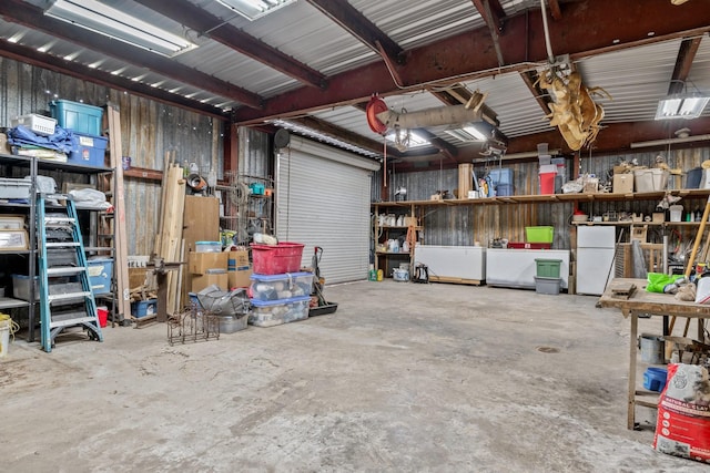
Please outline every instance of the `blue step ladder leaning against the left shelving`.
[[[48, 200], [57, 199], [67, 206], [48, 209]], [[74, 202], [68, 195], [38, 194], [37, 209], [42, 349], [51, 352], [54, 338], [71, 327], [103, 341]]]

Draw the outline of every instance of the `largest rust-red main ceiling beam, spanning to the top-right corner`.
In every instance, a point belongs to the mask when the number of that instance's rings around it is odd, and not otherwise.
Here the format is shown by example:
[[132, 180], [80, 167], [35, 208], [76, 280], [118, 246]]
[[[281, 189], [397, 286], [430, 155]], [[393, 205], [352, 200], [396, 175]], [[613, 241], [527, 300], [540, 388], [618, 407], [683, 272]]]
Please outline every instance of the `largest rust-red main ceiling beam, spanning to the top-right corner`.
[[[615, 18], [613, 22], [609, 18]], [[672, 21], [668, 21], [672, 18]], [[326, 92], [311, 88], [268, 99], [262, 111], [240, 109], [237, 122], [258, 122], [366, 101], [373, 92], [386, 96], [403, 90], [483, 78], [505, 71], [525, 71], [547, 61], [542, 20], [539, 10], [506, 20], [507, 34], [500, 37], [508, 65], [499, 68], [487, 28], [467, 31], [405, 52], [406, 65], [399, 68], [406, 83], [395, 84], [382, 62], [367, 64], [329, 78]], [[604, 25], [590, 34], [590, 25]], [[674, 38], [700, 35], [710, 31], [710, 9], [703, 2], [689, 2], [683, 9], [670, 2], [630, 2], [595, 0], [565, 3], [565, 25], [552, 24], [550, 39], [556, 54], [580, 59], [599, 51], [618, 51]], [[649, 32], [653, 35], [649, 37]], [[404, 88], [404, 89], [402, 89]]]

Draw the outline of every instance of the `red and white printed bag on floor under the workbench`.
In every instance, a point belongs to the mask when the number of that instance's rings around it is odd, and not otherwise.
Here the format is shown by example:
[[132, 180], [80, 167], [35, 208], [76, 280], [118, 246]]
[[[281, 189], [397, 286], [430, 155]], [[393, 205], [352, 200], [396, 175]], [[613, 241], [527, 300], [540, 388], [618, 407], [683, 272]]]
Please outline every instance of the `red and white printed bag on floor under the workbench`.
[[710, 379], [698, 364], [668, 366], [658, 400], [653, 449], [710, 463]]

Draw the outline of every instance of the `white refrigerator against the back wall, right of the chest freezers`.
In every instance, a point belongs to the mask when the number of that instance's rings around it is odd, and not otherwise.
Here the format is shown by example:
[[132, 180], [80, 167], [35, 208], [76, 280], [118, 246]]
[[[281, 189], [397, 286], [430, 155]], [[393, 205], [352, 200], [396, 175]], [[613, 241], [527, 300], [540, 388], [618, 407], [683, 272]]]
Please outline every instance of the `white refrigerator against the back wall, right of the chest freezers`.
[[577, 227], [577, 294], [601, 296], [611, 280], [615, 226]]

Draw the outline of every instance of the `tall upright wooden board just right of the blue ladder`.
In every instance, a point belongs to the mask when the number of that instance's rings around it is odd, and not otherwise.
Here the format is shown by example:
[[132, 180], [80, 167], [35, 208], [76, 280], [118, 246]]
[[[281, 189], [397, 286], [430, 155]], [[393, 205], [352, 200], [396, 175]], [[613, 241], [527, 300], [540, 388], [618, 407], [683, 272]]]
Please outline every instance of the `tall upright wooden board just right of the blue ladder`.
[[113, 182], [113, 213], [114, 213], [114, 255], [113, 264], [116, 279], [116, 306], [119, 315], [131, 317], [131, 288], [129, 284], [129, 250], [128, 229], [125, 224], [125, 187], [123, 185], [123, 166], [121, 157], [121, 117], [116, 105], [106, 104], [106, 119], [109, 122], [109, 156], [110, 166], [114, 169]]

